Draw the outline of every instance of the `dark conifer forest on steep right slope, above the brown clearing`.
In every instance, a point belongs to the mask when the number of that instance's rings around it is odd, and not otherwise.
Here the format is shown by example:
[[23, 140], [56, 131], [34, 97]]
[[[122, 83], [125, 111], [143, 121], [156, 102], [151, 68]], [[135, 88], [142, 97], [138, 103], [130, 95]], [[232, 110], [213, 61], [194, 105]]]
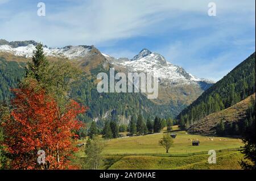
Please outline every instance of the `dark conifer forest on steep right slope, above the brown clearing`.
[[210, 113], [224, 110], [255, 92], [255, 52], [205, 91], [177, 118], [181, 127], [189, 127]]

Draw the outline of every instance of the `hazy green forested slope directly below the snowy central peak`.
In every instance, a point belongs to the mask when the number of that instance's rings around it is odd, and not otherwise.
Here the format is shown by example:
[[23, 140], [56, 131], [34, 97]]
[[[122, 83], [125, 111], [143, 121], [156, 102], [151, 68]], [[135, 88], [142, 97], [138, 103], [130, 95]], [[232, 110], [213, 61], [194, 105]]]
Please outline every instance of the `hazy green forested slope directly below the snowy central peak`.
[[[88, 78], [82, 75], [79, 82], [74, 82], [71, 97], [89, 107], [86, 115], [81, 116], [82, 120], [96, 119], [102, 127], [103, 120], [112, 119], [128, 124], [131, 116], [142, 114], [143, 117], [154, 119], [159, 117], [174, 117], [180, 111], [176, 106], [159, 105], [147, 99], [142, 93], [99, 93], [96, 89], [96, 79], [98, 71], [102, 68], [94, 69], [93, 76]], [[105, 70], [106, 71], [106, 70]], [[108, 73], [106, 71], [106, 73]]]

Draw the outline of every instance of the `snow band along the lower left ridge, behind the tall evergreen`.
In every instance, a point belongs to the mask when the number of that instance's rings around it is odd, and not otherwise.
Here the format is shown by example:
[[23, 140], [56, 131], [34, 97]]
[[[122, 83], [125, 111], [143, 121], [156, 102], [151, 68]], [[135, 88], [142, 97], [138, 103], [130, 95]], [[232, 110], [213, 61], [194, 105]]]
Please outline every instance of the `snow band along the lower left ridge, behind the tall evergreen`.
[[[44, 47], [46, 56], [65, 57], [69, 59], [84, 57], [92, 49], [92, 46], [67, 46], [63, 48]], [[26, 46], [12, 47], [11, 45], [0, 45], [0, 52], [12, 53], [15, 56], [32, 57], [35, 50], [34, 44]]]

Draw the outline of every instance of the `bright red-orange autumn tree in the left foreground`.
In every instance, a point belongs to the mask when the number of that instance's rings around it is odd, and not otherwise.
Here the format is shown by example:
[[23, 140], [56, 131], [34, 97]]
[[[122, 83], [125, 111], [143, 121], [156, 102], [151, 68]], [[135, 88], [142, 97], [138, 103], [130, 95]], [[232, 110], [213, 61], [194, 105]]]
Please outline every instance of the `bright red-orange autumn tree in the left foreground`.
[[[86, 111], [71, 101], [60, 113], [56, 101], [36, 82], [26, 88], [13, 89], [13, 111], [4, 125], [5, 145], [11, 154], [13, 169], [67, 169], [69, 158], [76, 151], [73, 138], [82, 123], [76, 119]], [[38, 151], [45, 153], [45, 163], [38, 163]]]

